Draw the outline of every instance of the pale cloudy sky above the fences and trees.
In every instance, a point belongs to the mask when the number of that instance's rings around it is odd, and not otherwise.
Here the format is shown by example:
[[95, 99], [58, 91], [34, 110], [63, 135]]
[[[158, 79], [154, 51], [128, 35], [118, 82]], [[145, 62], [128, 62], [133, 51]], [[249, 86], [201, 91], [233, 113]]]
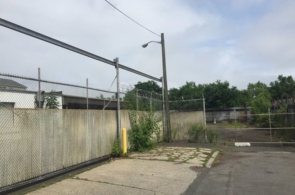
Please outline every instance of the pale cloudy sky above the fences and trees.
[[[165, 36], [168, 89], [186, 81], [269, 84], [295, 75], [295, 1], [109, 0]], [[104, 0], [0, 1], [0, 18], [151, 76], [162, 71], [160, 37]], [[114, 66], [0, 26], [0, 72], [109, 89]], [[148, 78], [120, 69], [120, 83]], [[161, 85], [161, 83], [159, 83]], [[112, 87], [115, 91], [116, 87]]]

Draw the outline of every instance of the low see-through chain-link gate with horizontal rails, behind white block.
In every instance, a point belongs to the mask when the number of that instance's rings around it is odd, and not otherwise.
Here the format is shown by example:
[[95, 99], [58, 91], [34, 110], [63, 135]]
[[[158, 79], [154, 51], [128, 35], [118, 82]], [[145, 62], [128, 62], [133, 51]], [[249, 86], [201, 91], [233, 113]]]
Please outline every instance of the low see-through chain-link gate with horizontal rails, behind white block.
[[294, 143], [295, 125], [292, 104], [282, 113], [271, 110], [250, 114], [251, 107], [224, 110], [207, 109], [207, 129], [215, 132], [214, 142]]

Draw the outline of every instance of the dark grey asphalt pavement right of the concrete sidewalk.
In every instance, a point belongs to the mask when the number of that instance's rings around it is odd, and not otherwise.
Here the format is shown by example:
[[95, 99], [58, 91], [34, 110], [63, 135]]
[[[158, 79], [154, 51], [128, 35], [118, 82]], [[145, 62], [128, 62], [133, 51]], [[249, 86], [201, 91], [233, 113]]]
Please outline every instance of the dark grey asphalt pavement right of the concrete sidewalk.
[[295, 153], [225, 151], [184, 194], [294, 194], [294, 162]]

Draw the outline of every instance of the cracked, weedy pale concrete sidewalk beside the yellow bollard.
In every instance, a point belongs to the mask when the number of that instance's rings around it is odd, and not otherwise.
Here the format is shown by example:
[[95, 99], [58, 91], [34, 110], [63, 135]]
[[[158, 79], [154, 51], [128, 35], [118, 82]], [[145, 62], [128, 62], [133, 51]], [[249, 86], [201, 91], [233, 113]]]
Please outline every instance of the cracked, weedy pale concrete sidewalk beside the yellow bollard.
[[132, 154], [134, 158], [114, 160], [28, 194], [182, 194], [198, 175], [190, 167], [202, 166], [211, 153], [212, 149], [206, 148], [161, 147]]

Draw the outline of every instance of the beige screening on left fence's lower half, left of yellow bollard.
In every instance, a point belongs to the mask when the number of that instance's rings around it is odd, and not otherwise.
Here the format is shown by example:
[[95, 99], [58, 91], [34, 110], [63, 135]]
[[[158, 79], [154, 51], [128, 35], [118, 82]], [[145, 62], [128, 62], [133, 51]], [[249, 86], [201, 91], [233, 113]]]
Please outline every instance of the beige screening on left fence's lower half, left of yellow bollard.
[[109, 155], [116, 111], [0, 108], [0, 189]]

